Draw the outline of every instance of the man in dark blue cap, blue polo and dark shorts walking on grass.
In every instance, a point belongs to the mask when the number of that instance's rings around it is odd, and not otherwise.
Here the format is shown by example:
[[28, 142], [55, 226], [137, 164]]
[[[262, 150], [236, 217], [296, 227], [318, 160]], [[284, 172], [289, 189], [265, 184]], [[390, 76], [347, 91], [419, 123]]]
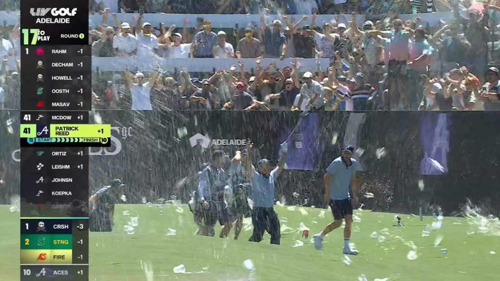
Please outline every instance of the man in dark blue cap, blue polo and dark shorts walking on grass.
[[352, 250], [349, 247], [352, 225], [351, 197], [353, 203], [357, 204], [358, 183], [356, 171], [359, 169], [358, 162], [351, 158], [352, 153], [354, 153], [354, 147], [351, 145], [345, 146], [341, 156], [334, 159], [326, 168], [326, 173], [324, 174], [324, 200], [330, 206], [334, 220], [326, 225], [323, 231], [313, 235], [314, 247], [318, 250], [322, 249], [321, 242], [324, 235], [342, 225], [342, 218], [344, 218], [344, 246], [342, 252], [345, 254], [357, 254], [356, 250]]

